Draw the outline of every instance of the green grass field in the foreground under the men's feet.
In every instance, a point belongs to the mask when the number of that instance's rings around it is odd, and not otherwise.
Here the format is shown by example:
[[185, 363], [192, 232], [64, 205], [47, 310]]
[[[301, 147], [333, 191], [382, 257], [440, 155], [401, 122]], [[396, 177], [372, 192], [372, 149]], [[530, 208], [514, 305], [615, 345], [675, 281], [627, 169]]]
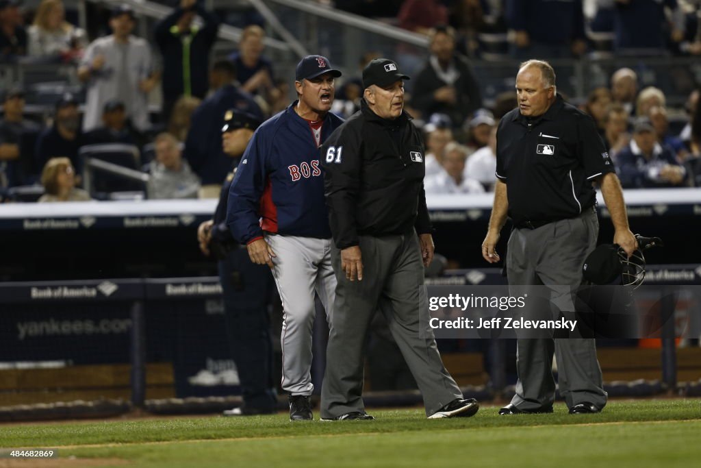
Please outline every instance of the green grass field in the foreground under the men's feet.
[[[62, 467], [78, 466], [83, 458], [90, 461], [81, 467], [94, 461], [139, 468], [701, 464], [699, 399], [611, 402], [598, 415], [568, 415], [562, 403], [552, 415], [500, 417], [497, 409], [483, 407], [475, 417], [451, 420], [426, 420], [423, 410], [410, 409], [369, 411], [376, 421], [292, 423], [280, 413], [5, 424], [0, 447], [58, 448]], [[104, 458], [115, 461], [104, 464]]]

